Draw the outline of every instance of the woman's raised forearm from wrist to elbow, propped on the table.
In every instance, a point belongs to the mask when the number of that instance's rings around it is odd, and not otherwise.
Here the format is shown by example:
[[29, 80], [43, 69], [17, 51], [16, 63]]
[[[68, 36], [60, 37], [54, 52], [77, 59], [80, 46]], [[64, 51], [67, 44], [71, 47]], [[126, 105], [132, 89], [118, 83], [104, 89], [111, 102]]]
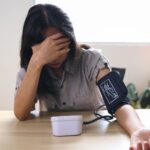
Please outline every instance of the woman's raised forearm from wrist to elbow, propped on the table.
[[31, 59], [24, 79], [15, 95], [14, 113], [19, 120], [27, 119], [35, 104], [41, 70], [42, 66]]

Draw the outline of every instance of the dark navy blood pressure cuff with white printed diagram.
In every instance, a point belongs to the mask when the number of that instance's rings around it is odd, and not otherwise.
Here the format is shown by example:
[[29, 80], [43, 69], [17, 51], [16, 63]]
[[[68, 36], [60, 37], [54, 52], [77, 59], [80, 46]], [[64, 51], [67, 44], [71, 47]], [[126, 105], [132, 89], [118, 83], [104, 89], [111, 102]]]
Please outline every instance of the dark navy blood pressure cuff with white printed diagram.
[[97, 85], [110, 114], [114, 114], [119, 107], [129, 103], [127, 88], [115, 71], [102, 77]]

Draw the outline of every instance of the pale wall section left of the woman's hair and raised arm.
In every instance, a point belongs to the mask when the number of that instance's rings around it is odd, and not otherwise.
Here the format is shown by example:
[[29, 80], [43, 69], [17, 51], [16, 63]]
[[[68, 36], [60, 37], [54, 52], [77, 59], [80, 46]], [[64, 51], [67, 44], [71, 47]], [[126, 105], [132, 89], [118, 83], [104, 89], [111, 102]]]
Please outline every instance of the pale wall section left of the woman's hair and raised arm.
[[1, 0], [0, 110], [13, 108], [22, 25], [32, 0]]

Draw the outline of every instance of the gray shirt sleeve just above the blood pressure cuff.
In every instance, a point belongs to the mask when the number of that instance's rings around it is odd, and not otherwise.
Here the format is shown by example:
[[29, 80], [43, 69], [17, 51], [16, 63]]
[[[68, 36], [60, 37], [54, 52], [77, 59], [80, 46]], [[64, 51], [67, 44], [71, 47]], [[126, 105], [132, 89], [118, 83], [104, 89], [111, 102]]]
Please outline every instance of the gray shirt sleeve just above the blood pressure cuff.
[[86, 78], [96, 82], [96, 77], [100, 69], [110, 68], [109, 60], [102, 54], [101, 50], [87, 50], [83, 55], [83, 65]]

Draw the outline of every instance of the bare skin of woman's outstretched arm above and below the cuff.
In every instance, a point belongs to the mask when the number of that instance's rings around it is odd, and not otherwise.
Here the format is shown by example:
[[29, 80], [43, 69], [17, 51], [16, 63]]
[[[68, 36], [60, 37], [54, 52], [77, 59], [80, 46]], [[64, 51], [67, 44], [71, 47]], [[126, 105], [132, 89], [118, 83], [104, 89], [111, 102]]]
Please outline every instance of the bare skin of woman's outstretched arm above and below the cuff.
[[[109, 72], [107, 67], [101, 69], [97, 75], [97, 81]], [[150, 129], [144, 127], [132, 106], [121, 106], [116, 110], [115, 116], [118, 123], [131, 137], [130, 150], [150, 150]]]

